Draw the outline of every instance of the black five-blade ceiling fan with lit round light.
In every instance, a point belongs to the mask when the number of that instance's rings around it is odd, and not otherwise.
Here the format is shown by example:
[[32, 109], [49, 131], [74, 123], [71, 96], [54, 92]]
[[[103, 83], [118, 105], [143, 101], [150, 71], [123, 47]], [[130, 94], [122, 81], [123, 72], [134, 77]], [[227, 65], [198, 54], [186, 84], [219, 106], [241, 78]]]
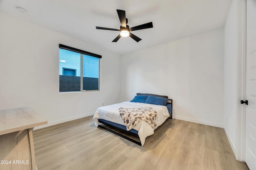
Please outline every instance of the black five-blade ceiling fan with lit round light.
[[124, 10], [116, 10], [121, 26], [120, 29], [114, 29], [114, 28], [106, 28], [106, 27], [97, 27], [96, 29], [106, 29], [106, 30], [112, 30], [112, 31], [120, 31], [120, 34], [112, 41], [112, 42], [117, 42], [118, 39], [120, 39], [120, 37], [131, 37], [132, 39], [134, 39], [135, 41], [139, 42], [141, 39], [139, 37], [137, 37], [136, 35], [132, 34], [130, 31], [135, 31], [135, 30], [140, 30], [140, 29], [146, 29], [146, 28], [152, 28], [153, 27], [153, 23], [149, 22], [149, 23], [144, 23], [142, 25], [138, 25], [135, 27], [129, 27], [128, 25], [126, 25], [128, 23], [128, 19], [125, 16], [125, 11]]

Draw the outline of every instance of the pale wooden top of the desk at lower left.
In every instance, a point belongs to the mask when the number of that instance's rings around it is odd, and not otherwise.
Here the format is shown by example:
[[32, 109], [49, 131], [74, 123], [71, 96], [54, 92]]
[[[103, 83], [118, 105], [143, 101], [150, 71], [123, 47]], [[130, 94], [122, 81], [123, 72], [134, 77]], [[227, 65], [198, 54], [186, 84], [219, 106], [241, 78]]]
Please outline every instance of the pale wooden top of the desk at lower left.
[[45, 124], [47, 120], [30, 107], [0, 110], [0, 135]]

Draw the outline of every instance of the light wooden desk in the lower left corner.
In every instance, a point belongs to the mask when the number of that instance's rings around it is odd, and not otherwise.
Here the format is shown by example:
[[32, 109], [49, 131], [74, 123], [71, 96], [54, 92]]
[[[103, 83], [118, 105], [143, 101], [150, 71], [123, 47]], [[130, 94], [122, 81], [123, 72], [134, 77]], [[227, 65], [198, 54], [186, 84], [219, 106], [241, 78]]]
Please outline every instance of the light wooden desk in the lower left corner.
[[36, 170], [32, 130], [44, 124], [29, 107], [0, 110], [0, 170]]

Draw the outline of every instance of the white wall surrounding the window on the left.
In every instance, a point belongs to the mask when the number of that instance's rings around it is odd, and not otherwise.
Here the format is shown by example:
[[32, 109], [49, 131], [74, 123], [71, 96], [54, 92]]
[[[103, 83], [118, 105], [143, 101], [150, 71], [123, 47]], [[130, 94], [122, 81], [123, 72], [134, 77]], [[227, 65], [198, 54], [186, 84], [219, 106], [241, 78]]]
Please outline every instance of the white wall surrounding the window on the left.
[[[119, 102], [119, 55], [2, 12], [0, 21], [0, 109], [29, 106], [53, 125]], [[59, 94], [59, 43], [102, 55], [100, 92]]]

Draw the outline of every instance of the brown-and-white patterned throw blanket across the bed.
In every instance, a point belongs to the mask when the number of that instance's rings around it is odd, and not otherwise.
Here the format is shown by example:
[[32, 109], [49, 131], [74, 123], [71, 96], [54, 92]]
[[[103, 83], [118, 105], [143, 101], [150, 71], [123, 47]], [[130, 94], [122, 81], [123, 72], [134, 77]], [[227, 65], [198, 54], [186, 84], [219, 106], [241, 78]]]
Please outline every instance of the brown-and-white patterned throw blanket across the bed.
[[152, 107], [120, 107], [118, 110], [124, 120], [127, 131], [135, 127], [140, 121], [146, 121], [153, 128], [157, 126], [157, 111]]

